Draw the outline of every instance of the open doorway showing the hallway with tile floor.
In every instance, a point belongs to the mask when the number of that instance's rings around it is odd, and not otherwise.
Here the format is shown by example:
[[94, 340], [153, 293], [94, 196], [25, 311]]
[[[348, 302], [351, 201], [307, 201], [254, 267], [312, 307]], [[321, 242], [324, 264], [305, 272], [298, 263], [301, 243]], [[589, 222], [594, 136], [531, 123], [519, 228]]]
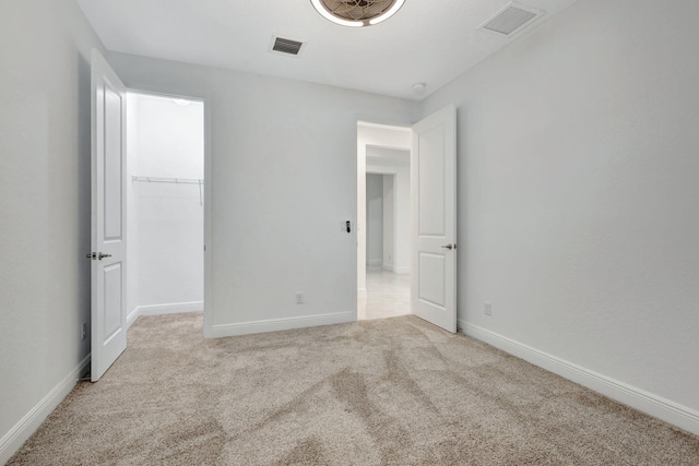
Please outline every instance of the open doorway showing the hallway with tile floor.
[[411, 313], [412, 130], [357, 127], [357, 319]]

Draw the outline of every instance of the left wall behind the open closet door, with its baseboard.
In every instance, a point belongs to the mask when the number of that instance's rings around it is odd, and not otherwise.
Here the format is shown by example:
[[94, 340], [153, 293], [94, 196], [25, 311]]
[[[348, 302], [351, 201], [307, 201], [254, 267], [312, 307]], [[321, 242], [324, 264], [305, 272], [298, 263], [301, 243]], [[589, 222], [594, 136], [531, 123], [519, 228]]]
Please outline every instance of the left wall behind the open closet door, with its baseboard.
[[71, 0], [0, 2], [0, 463], [90, 354], [90, 53]]

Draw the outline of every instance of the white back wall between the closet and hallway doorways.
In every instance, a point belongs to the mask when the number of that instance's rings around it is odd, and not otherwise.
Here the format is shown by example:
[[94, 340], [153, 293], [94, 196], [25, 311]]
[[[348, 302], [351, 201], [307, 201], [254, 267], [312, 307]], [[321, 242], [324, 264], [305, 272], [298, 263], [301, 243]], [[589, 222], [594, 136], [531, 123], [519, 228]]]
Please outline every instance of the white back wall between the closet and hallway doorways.
[[[356, 318], [357, 120], [418, 105], [318, 84], [110, 53], [132, 88], [201, 96], [211, 122], [205, 331]], [[209, 176], [209, 172], [206, 174]], [[306, 302], [296, 304], [295, 294]]]

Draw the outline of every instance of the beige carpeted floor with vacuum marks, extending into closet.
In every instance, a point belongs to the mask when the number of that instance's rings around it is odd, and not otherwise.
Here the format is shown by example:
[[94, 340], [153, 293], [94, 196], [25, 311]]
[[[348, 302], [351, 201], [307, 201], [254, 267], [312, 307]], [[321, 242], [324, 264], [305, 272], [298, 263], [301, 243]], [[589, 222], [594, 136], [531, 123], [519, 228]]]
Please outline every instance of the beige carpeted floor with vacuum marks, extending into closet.
[[11, 465], [699, 465], [699, 438], [414, 316], [204, 340], [141, 318]]

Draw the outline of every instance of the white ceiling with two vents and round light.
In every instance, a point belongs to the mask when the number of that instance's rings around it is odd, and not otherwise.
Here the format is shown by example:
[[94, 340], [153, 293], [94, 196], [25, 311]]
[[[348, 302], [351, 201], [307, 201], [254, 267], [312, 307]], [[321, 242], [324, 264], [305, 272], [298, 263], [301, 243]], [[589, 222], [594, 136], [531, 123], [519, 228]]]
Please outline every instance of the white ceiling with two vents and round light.
[[[310, 0], [76, 0], [109, 50], [422, 98], [514, 37], [478, 29], [509, 0], [406, 0], [370, 27], [333, 24]], [[536, 27], [576, 0], [523, 0]], [[270, 52], [272, 37], [306, 43]], [[416, 95], [414, 83], [427, 84]]]

